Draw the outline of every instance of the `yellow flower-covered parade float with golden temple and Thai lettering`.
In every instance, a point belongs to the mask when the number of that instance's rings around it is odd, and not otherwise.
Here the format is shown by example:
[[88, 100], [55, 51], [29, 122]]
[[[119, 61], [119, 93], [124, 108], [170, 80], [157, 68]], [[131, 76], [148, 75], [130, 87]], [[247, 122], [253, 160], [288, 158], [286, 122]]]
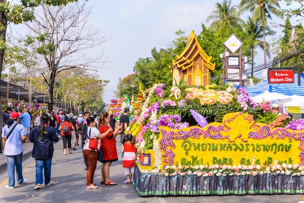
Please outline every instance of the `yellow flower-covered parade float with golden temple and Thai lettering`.
[[304, 193], [304, 122], [272, 114], [245, 89], [210, 85], [210, 60], [192, 33], [173, 61], [173, 87], [143, 92], [125, 132], [136, 138], [138, 194]]

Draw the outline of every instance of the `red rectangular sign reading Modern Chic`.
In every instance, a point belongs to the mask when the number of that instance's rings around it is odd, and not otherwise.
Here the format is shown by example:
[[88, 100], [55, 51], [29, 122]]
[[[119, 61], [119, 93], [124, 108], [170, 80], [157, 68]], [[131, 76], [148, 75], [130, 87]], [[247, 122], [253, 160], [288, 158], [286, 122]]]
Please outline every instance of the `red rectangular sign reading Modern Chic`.
[[269, 83], [294, 83], [293, 70], [269, 71]]

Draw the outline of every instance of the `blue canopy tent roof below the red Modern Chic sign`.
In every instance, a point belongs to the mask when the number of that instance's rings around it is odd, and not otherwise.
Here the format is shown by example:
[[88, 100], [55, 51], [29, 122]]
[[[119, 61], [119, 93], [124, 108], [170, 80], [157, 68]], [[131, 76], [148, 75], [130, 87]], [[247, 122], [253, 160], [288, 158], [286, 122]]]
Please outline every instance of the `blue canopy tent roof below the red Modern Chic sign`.
[[[225, 81], [227, 83], [229, 81]], [[297, 74], [294, 74], [294, 83], [281, 83], [281, 84], [268, 84], [268, 81], [263, 81], [257, 83], [253, 86], [243, 87], [247, 90], [251, 97], [258, 94], [262, 94], [265, 91], [277, 92], [285, 95], [300, 95], [304, 96], [304, 77], [300, 77], [300, 84], [298, 86]], [[238, 88], [238, 85], [234, 85], [235, 88]]]

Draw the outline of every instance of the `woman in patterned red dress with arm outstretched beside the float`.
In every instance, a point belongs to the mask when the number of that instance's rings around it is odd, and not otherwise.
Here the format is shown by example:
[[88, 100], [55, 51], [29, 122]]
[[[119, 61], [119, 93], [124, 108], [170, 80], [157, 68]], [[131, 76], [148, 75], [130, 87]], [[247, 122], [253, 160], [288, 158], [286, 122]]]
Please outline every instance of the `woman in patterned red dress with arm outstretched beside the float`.
[[[100, 133], [106, 132], [110, 126], [109, 113], [103, 112], [99, 117], [98, 129]], [[117, 185], [117, 183], [110, 181], [110, 165], [113, 161], [118, 161], [117, 149], [116, 149], [116, 136], [121, 132], [122, 126], [119, 126], [114, 132], [108, 133], [108, 135], [100, 141], [100, 152], [102, 153], [103, 164], [101, 166], [101, 184], [107, 186]]]

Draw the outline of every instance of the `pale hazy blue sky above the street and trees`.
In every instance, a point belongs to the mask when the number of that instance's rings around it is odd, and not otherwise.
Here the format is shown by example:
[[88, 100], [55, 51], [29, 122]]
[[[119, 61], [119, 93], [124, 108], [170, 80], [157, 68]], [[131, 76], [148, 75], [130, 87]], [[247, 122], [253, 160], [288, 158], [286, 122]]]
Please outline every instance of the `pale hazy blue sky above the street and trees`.
[[[221, 2], [221, 1], [220, 1]], [[238, 5], [240, 0], [233, 0]], [[104, 100], [114, 96], [119, 77], [124, 78], [133, 72], [133, 66], [138, 58], [150, 57], [154, 47], [160, 49], [172, 41], [175, 31], [181, 29], [189, 35], [192, 29], [197, 34], [201, 32], [201, 23], [215, 9], [216, 1], [160, 1], [160, 0], [89, 0], [93, 7], [88, 23], [101, 28], [104, 35], [112, 35], [112, 39], [103, 44], [106, 49], [105, 57], [112, 59], [113, 68], [99, 69], [100, 79], [109, 80]], [[281, 3], [281, 8], [286, 4]], [[249, 13], [242, 17], [246, 19]], [[276, 23], [283, 23], [282, 19], [274, 18]], [[295, 20], [293, 24], [297, 23]], [[22, 29], [22, 26], [16, 26]], [[281, 35], [281, 28], [273, 28], [277, 36]], [[268, 39], [268, 41], [270, 41]], [[95, 54], [98, 49], [87, 50], [88, 54]], [[256, 63], [263, 60], [262, 51], [256, 56]], [[260, 74], [258, 74], [260, 75]]]

